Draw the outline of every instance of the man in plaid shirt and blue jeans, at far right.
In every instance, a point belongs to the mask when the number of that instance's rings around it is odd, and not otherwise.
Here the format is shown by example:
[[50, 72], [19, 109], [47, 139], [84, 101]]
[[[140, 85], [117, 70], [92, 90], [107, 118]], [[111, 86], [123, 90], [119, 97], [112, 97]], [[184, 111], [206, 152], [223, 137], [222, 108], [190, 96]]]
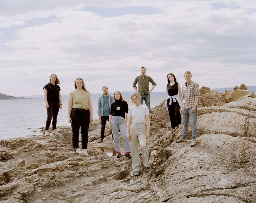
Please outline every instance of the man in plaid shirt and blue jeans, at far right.
[[188, 122], [191, 120], [192, 126], [192, 141], [191, 147], [196, 145], [197, 135], [197, 103], [199, 99], [199, 85], [194, 83], [191, 78], [192, 74], [190, 71], [186, 71], [184, 74], [186, 83], [182, 87], [182, 102], [181, 102], [181, 113], [183, 113], [182, 125], [183, 132], [182, 136], [176, 142], [187, 141]]

